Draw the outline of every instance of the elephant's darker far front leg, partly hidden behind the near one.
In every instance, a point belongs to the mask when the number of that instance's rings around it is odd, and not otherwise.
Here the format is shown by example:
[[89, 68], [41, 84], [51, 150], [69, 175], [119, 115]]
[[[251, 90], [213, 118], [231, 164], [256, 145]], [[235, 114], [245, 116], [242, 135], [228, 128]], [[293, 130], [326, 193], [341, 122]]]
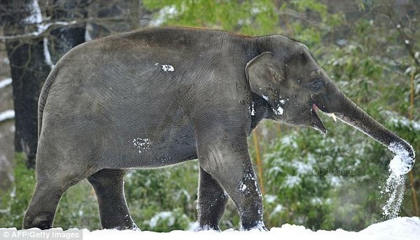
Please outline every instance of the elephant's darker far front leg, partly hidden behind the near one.
[[200, 167], [198, 190], [198, 227], [201, 230], [220, 231], [218, 223], [223, 216], [228, 195], [216, 179]]

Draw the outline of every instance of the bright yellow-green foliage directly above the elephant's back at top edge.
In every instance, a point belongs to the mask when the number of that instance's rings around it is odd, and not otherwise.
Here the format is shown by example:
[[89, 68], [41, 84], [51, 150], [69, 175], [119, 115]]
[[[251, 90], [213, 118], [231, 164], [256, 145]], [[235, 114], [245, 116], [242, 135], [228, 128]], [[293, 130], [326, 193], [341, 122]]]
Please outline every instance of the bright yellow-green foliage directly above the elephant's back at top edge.
[[278, 15], [273, 1], [172, 1], [146, 0], [144, 6], [156, 10], [154, 24], [209, 27], [243, 34], [273, 32]]

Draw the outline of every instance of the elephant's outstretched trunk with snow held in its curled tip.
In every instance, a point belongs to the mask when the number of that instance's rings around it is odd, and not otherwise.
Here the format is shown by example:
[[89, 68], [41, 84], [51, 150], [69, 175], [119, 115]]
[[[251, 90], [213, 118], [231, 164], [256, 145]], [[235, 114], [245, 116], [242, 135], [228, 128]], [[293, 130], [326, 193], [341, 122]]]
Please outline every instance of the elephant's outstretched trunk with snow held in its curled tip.
[[[394, 166], [391, 166], [390, 164], [390, 167], [395, 174], [406, 174], [412, 169], [415, 160], [415, 153], [414, 149], [409, 145], [409, 143], [407, 143], [407, 141], [401, 139], [399, 136], [374, 120], [374, 118], [365, 113], [365, 111], [359, 108], [355, 103], [353, 103], [353, 101], [340, 92], [337, 87], [334, 87], [332, 92], [335, 92], [335, 94], [332, 94], [332, 97], [328, 99], [328, 105], [330, 105], [328, 108], [330, 108], [330, 111], [327, 112], [334, 113], [343, 122], [359, 129], [361, 132], [384, 144], [384, 146], [395, 153], [396, 158], [394, 157], [394, 160], [397, 159], [400, 161], [398, 163], [393, 163], [392, 161], [391, 164], [394, 164]], [[325, 111], [326, 110], [327, 109], [325, 108]]]

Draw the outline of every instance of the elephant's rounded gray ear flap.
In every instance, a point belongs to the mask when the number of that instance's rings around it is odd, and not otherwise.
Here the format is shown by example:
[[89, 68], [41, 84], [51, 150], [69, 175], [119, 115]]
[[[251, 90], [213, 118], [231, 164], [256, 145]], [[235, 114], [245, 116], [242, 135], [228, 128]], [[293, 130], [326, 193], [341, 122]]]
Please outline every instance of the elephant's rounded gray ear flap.
[[283, 63], [274, 57], [273, 52], [262, 52], [246, 64], [245, 73], [251, 91], [275, 104], [275, 92], [283, 80]]

